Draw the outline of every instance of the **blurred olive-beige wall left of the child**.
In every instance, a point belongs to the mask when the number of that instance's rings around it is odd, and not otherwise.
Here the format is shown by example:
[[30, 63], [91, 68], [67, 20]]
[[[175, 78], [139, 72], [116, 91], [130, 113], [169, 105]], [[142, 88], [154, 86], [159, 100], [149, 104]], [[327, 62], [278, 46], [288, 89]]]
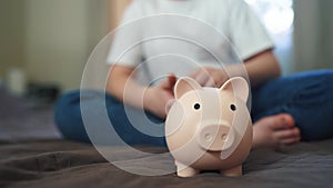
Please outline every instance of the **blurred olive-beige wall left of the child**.
[[0, 79], [12, 67], [29, 81], [80, 87], [94, 46], [109, 31], [113, 0], [1, 0]]

